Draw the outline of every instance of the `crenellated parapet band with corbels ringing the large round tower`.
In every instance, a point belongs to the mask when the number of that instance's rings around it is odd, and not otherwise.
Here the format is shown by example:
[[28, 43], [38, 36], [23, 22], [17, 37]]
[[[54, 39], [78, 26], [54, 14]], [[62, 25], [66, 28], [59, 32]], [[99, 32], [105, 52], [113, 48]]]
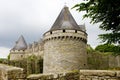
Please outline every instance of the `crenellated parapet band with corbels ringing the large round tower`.
[[79, 30], [55, 30], [44, 34], [44, 41], [74, 39], [87, 42], [87, 34]]

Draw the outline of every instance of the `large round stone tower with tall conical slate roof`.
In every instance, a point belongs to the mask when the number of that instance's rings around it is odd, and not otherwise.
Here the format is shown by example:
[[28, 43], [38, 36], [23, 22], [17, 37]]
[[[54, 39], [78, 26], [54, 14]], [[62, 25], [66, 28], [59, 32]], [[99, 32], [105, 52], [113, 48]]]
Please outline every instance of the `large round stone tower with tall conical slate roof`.
[[[84, 27], [84, 28], [83, 28]], [[43, 36], [43, 73], [59, 73], [87, 67], [85, 25], [78, 25], [68, 7], [60, 12]]]

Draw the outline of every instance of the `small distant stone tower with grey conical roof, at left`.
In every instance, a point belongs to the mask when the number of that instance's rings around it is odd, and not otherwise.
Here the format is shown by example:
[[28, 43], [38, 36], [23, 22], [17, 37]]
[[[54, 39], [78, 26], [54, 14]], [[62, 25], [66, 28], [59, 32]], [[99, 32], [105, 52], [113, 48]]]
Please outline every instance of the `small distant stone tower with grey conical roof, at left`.
[[10, 60], [20, 60], [24, 58], [25, 50], [27, 49], [27, 43], [24, 37], [21, 35], [15, 46], [10, 50]]

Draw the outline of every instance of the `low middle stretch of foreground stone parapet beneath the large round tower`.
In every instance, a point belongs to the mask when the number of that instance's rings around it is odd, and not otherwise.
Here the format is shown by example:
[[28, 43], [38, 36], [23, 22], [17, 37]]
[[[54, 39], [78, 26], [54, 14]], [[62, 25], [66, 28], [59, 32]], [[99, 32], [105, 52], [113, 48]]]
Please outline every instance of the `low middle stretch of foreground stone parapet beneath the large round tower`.
[[58, 74], [33, 74], [28, 80], [79, 80], [79, 72], [66, 72]]

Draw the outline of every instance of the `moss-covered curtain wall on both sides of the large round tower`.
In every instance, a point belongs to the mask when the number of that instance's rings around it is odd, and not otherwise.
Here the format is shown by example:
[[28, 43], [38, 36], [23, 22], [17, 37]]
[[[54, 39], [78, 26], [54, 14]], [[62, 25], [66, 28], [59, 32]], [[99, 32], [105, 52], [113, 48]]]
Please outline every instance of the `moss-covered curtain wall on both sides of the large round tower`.
[[[89, 70], [120, 70], [120, 56], [103, 55], [96, 52], [88, 53], [87, 65]], [[35, 55], [29, 56], [23, 60], [0, 60], [2, 64], [8, 64], [16, 67], [21, 67], [27, 74], [43, 72], [43, 58]]]

